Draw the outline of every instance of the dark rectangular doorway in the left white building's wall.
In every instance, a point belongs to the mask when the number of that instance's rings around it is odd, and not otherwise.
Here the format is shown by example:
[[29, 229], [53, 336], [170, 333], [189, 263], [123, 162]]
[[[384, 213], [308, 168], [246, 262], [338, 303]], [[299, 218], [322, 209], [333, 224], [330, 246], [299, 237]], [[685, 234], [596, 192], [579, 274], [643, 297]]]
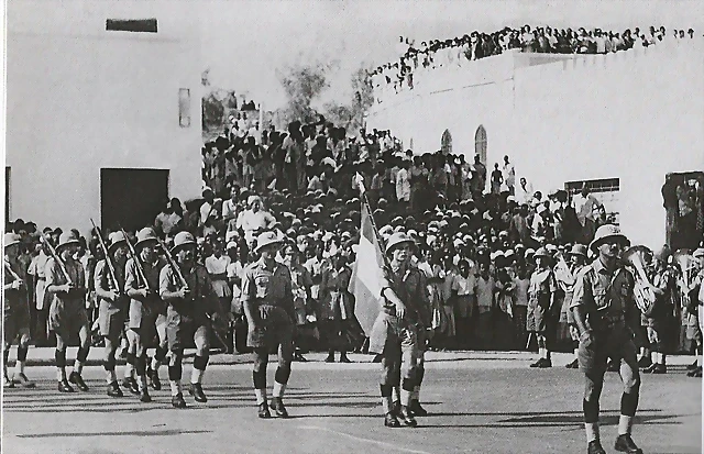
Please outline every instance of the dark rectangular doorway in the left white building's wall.
[[168, 170], [136, 168], [100, 169], [100, 224], [128, 231], [154, 223], [168, 200]]

